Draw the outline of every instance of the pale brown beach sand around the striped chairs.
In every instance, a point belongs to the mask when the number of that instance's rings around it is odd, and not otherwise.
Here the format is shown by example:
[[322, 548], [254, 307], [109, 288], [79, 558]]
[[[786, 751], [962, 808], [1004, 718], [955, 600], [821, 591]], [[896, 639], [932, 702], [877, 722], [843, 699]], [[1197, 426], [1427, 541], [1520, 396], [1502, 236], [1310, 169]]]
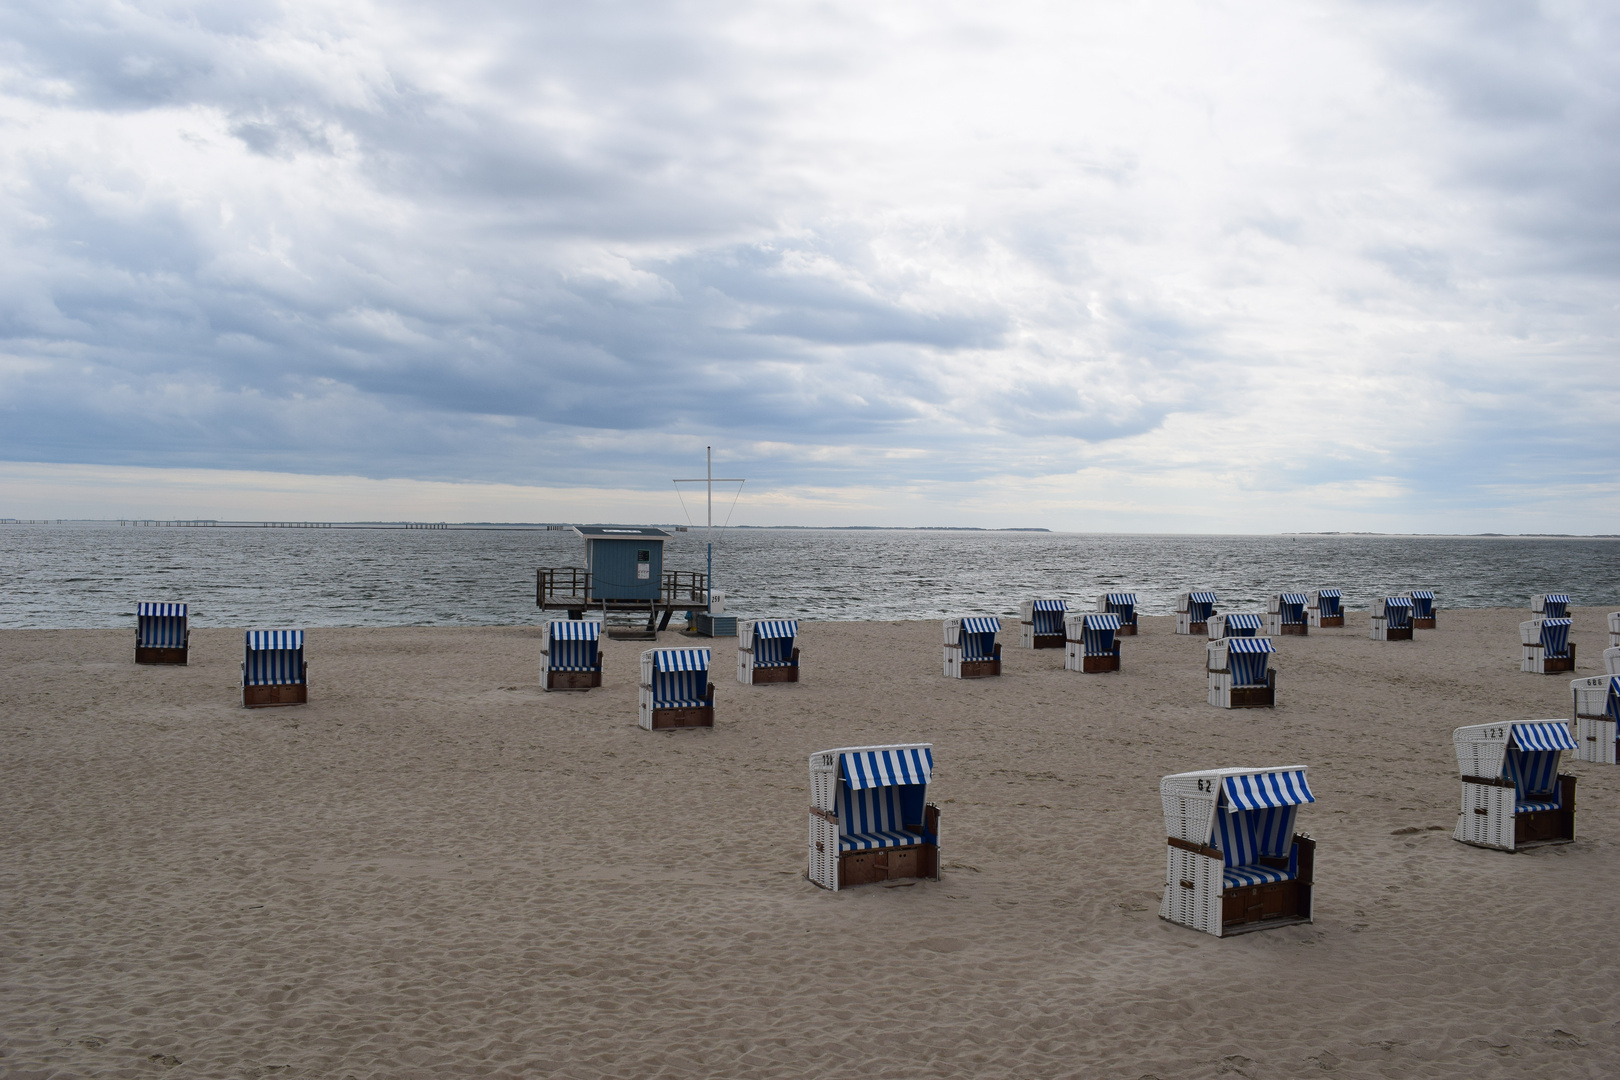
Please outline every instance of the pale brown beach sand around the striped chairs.
[[[799, 685], [711, 643], [716, 729], [659, 733], [643, 643], [548, 695], [538, 628], [318, 628], [311, 703], [245, 711], [240, 630], [185, 669], [0, 631], [0, 1074], [1617, 1075], [1620, 769], [1565, 756], [1573, 845], [1450, 839], [1452, 729], [1570, 714], [1523, 619], [1375, 643], [1351, 612], [1231, 712], [1170, 619], [1116, 675], [1004, 620], [980, 682], [935, 622], [815, 623]], [[823, 892], [807, 758], [886, 742], [935, 746], [943, 879]], [[1311, 767], [1315, 925], [1162, 921], [1158, 779], [1280, 764]]]

